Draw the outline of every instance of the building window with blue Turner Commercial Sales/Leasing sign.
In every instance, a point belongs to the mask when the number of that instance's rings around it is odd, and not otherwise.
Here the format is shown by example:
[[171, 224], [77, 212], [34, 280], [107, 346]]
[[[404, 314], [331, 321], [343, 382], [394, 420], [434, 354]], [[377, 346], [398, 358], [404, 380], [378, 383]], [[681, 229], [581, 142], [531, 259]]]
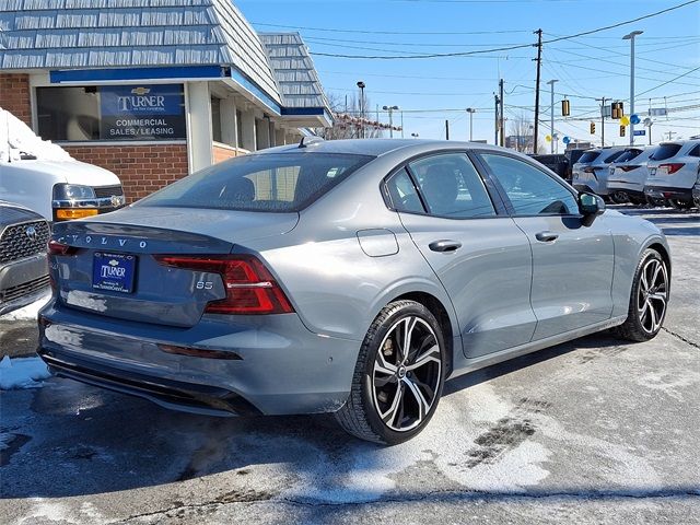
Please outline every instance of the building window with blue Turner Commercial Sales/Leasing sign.
[[177, 140], [186, 138], [183, 84], [37, 88], [45, 140]]

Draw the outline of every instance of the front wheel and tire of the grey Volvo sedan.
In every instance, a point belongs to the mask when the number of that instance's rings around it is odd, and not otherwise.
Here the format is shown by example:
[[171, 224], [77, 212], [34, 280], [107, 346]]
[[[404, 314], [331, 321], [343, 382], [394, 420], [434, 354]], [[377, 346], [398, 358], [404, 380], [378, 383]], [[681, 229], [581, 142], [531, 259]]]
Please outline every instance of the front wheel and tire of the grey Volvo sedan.
[[655, 249], [645, 249], [634, 271], [627, 320], [615, 334], [637, 342], [656, 337], [666, 316], [669, 287], [666, 261]]

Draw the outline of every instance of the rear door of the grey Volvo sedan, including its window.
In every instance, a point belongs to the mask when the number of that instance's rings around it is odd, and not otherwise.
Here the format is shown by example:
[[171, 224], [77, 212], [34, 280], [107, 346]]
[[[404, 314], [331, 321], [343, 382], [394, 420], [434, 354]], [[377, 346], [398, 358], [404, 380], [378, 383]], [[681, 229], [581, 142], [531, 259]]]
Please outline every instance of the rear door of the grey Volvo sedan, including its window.
[[452, 300], [465, 355], [528, 342], [536, 325], [529, 243], [498, 194], [491, 199], [467, 154], [412, 161], [393, 174], [386, 189]]

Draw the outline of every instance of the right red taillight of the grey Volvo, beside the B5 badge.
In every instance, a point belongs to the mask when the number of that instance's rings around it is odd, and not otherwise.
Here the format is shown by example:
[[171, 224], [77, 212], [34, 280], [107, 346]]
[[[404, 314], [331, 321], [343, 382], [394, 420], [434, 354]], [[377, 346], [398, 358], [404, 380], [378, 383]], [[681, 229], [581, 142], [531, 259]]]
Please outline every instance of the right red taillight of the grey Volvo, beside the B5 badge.
[[161, 265], [219, 273], [226, 298], [207, 304], [210, 314], [289, 314], [287, 295], [260, 260], [252, 255], [154, 255]]

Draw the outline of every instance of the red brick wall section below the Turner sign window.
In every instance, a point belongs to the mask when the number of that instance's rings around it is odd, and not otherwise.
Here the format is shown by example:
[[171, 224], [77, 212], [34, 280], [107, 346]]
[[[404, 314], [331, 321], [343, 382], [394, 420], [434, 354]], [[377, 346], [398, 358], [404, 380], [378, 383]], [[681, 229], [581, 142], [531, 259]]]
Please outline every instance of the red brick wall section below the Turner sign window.
[[114, 172], [133, 202], [187, 175], [187, 145], [65, 145], [74, 159]]

